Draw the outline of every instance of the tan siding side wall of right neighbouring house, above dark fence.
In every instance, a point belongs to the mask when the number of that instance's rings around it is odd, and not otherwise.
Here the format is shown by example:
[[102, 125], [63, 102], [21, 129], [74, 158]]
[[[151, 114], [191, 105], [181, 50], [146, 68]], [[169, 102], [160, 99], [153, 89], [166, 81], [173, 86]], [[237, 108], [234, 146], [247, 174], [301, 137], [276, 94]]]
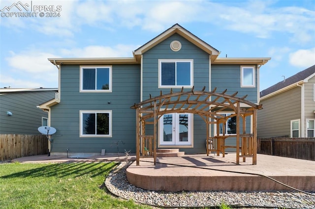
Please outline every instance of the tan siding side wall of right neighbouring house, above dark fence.
[[257, 137], [290, 136], [290, 121], [301, 119], [301, 87], [260, 101], [257, 111]]

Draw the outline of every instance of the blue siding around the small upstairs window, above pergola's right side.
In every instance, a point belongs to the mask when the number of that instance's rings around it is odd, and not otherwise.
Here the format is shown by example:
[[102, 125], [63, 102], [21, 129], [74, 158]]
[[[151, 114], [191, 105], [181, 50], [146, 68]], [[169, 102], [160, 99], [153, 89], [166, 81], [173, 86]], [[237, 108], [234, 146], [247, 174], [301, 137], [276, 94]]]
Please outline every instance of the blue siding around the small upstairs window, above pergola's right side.
[[255, 69], [255, 87], [241, 87], [241, 65], [212, 64], [211, 88], [217, 87], [217, 92], [220, 93], [227, 89], [226, 94], [233, 94], [237, 91], [237, 97], [248, 95], [246, 100], [257, 103], [257, 66]]

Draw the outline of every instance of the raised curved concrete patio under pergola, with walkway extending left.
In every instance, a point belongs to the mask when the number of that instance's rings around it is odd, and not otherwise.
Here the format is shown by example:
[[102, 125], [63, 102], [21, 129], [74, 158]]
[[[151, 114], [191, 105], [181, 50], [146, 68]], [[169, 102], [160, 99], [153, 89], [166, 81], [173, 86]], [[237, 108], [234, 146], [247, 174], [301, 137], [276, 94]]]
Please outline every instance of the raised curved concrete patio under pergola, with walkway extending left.
[[[275, 179], [303, 191], [315, 191], [315, 161], [287, 157], [257, 155], [257, 164], [240, 160], [236, 165], [236, 154], [225, 157], [185, 155], [184, 157], [141, 158], [140, 166], [135, 161], [126, 169], [129, 183], [148, 190], [164, 191], [293, 191], [292, 188], [277, 183]], [[12, 161], [22, 163], [53, 162], [96, 162], [125, 161], [124, 155], [105, 155], [84, 158], [66, 156], [31, 156]], [[134, 155], [127, 158], [135, 160]]]

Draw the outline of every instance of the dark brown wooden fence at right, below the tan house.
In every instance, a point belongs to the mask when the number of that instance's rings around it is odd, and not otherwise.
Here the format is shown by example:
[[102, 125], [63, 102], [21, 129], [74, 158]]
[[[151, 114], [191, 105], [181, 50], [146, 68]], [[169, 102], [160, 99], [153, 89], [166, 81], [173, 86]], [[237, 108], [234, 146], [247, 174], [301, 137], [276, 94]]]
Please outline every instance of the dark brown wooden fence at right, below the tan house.
[[315, 160], [315, 138], [258, 139], [257, 153]]

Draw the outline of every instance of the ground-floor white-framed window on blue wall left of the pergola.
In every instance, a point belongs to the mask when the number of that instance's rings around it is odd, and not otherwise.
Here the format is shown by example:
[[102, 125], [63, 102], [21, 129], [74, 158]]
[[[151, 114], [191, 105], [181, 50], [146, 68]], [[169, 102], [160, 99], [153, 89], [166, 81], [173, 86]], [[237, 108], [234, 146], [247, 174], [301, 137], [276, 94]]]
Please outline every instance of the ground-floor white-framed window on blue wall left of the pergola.
[[111, 110], [80, 110], [80, 137], [111, 136]]

